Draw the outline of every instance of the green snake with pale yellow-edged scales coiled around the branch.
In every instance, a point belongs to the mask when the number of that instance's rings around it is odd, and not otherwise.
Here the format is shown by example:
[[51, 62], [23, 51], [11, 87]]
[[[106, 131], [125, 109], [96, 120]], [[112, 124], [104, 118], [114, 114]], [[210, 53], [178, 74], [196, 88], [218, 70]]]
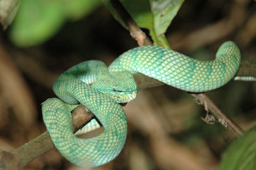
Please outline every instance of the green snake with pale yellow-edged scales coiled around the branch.
[[[52, 86], [60, 99], [49, 98], [43, 103], [43, 120], [55, 147], [69, 162], [78, 166], [101, 166], [114, 159], [126, 142], [126, 114], [119, 103], [135, 98], [134, 73], [184, 91], [202, 92], [226, 84], [239, 66], [240, 50], [231, 41], [221, 45], [213, 61], [194, 60], [163, 47], [135, 47], [109, 67], [91, 60], [67, 69]], [[89, 139], [73, 134], [70, 111], [78, 103], [94, 113], [104, 132]], [[84, 131], [95, 128], [99, 128], [99, 123], [94, 119]]]

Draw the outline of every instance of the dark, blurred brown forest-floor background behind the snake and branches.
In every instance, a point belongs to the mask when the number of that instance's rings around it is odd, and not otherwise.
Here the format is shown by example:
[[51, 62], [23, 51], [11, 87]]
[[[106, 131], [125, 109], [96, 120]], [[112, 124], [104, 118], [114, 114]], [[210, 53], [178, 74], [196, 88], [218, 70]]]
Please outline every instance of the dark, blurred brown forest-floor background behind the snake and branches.
[[[213, 60], [226, 40], [238, 44], [242, 59], [255, 58], [255, 11], [255, 1], [185, 1], [166, 36], [173, 50], [200, 60]], [[9, 32], [0, 33], [0, 146], [4, 150], [46, 130], [40, 104], [55, 96], [51, 86], [58, 75], [85, 60], [110, 64], [137, 46], [105, 6], [82, 20], [65, 23], [42, 45], [16, 47]], [[230, 81], [206, 94], [244, 130], [255, 123], [255, 83]], [[206, 111], [193, 97], [170, 86], [140, 91], [125, 111], [128, 137], [123, 152], [98, 169], [217, 169], [221, 153], [233, 139], [221, 124], [201, 120]], [[24, 169], [78, 168], [52, 149]]]

